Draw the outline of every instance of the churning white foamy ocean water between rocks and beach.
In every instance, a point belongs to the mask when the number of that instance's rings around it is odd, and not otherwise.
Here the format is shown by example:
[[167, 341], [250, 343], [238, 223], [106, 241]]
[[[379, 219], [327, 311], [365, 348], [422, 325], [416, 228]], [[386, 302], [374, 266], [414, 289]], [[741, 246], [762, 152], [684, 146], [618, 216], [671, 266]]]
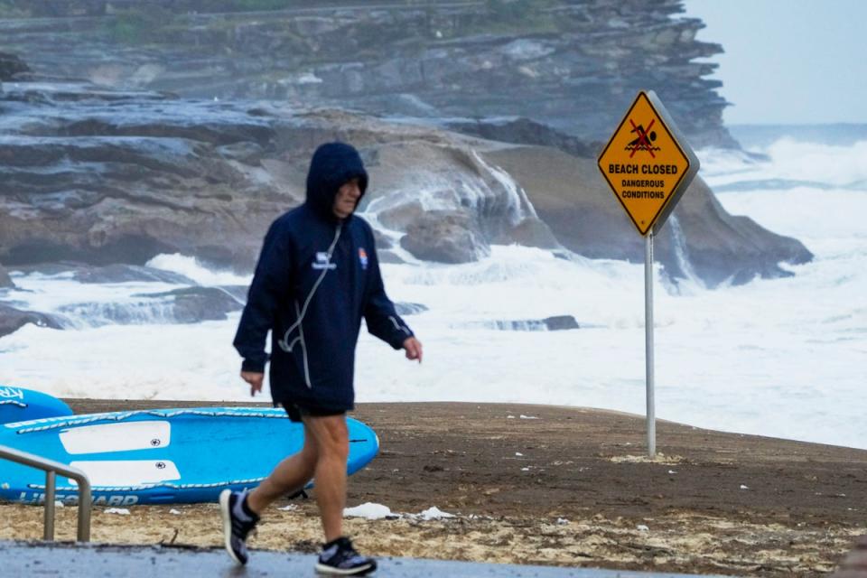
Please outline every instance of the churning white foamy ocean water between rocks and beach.
[[[867, 449], [867, 129], [734, 132], [756, 154], [700, 151], [702, 176], [726, 210], [800, 239], [816, 258], [785, 266], [792, 277], [714, 290], [657, 275], [657, 418]], [[150, 265], [205, 285], [249, 281], [189, 256], [158, 256]], [[477, 263], [386, 265], [383, 273], [393, 300], [427, 307], [406, 317], [424, 342], [424, 363], [363, 333], [359, 401], [644, 413], [643, 266], [513, 246], [493, 247]], [[69, 275], [14, 274], [14, 281], [22, 290], [5, 298], [42, 312], [177, 287], [84, 285]], [[497, 329], [554, 315], [572, 315], [581, 328]], [[238, 316], [99, 326], [85, 317], [67, 331], [28, 325], [0, 339], [0, 383], [56, 396], [249, 399], [231, 347]], [[657, 448], [665, 452], [664, 438]]]

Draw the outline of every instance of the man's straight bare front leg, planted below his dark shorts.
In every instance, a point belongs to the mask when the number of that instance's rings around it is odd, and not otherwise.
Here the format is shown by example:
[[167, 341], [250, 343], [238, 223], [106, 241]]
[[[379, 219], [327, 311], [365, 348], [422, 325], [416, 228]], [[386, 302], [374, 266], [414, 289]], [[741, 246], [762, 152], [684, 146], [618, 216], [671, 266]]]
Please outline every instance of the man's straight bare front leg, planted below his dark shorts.
[[303, 416], [319, 448], [316, 462], [316, 503], [322, 517], [325, 542], [343, 536], [346, 506], [346, 460], [350, 453], [344, 415]]

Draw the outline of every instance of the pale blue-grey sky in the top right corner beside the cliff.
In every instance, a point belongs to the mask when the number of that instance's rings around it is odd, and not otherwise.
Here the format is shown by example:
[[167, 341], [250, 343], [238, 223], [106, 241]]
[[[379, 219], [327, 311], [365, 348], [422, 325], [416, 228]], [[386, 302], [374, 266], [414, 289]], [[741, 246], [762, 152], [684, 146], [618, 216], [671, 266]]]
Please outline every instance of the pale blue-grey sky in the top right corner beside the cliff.
[[867, 0], [685, 0], [725, 49], [726, 124], [867, 123]]

